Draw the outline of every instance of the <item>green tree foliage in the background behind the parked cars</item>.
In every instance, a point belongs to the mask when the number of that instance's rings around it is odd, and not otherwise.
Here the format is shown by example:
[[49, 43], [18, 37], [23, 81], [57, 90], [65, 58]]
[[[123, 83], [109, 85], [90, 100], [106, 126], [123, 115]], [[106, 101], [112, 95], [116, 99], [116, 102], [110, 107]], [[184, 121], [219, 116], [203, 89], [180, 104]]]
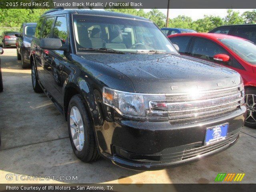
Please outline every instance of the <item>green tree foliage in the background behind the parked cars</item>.
[[[128, 9], [105, 8], [105, 10], [148, 18], [160, 28], [164, 27], [166, 22], [166, 16], [158, 9], [152, 9], [149, 12], [145, 12], [143, 9], [137, 10], [130, 7]], [[45, 11], [46, 9], [0, 9], [0, 26], [13, 28], [20, 27], [23, 22], [38, 22], [38, 18]], [[221, 25], [253, 23], [256, 23], [256, 10], [246, 11], [240, 15], [238, 11], [228, 9], [227, 15], [224, 18], [205, 15], [204, 18], [193, 21], [192, 18], [188, 16], [179, 15], [176, 18], [169, 19], [169, 27], [188, 28], [198, 32], [208, 32]]]

